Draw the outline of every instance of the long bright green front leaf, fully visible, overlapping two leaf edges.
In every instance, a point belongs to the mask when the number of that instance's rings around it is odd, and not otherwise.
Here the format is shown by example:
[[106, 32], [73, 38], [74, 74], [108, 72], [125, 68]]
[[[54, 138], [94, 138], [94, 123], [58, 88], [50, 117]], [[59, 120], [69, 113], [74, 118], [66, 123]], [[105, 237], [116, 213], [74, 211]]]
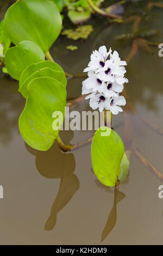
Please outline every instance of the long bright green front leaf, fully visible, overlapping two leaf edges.
[[38, 77], [28, 84], [29, 95], [19, 119], [19, 129], [30, 147], [46, 151], [58, 137], [52, 128], [54, 111], [64, 117], [66, 89], [60, 82], [49, 77]]

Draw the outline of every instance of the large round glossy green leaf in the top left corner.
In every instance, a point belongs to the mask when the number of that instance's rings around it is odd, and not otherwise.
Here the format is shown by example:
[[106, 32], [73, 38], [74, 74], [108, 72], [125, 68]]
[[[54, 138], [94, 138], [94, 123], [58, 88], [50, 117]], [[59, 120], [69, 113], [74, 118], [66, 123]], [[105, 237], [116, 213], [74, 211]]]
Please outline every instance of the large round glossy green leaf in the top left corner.
[[47, 52], [58, 38], [62, 20], [57, 6], [48, 0], [21, 0], [11, 5], [4, 17], [11, 41], [35, 42]]

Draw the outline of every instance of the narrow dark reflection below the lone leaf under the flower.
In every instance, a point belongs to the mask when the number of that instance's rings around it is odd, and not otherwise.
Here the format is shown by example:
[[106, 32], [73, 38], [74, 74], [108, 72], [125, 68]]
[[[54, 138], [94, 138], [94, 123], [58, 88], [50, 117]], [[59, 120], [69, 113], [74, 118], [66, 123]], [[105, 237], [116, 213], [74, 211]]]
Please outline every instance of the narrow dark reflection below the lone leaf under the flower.
[[119, 191], [118, 188], [115, 187], [115, 190], [114, 190], [114, 204], [112, 206], [112, 209], [110, 211], [108, 220], [106, 222], [103, 233], [101, 235], [101, 242], [104, 241], [104, 239], [109, 235], [111, 230], [115, 227], [115, 224], [116, 224], [116, 221], [117, 221], [117, 204], [119, 202], [121, 202], [125, 197], [126, 197], [126, 194]]

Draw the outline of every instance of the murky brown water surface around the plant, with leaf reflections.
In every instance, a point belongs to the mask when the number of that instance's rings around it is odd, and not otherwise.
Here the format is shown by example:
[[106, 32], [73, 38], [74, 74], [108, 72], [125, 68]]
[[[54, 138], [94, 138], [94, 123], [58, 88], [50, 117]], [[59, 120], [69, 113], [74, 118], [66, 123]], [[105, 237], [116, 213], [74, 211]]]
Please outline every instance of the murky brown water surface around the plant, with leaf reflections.
[[[153, 26], [160, 25], [161, 18]], [[81, 73], [91, 51], [100, 45], [111, 46], [126, 58], [130, 45], [117, 45], [113, 38], [127, 28], [102, 28], [98, 26], [86, 41], [59, 38], [51, 49], [55, 61], [67, 72]], [[163, 41], [162, 31], [155, 41]], [[66, 50], [70, 44], [78, 45], [78, 50]], [[127, 68], [126, 88], [137, 115], [163, 127], [163, 57], [158, 56], [158, 48], [153, 51], [137, 51]], [[70, 154], [62, 154], [55, 144], [47, 152], [28, 147], [18, 131], [24, 106], [18, 83], [1, 74], [0, 84], [0, 185], [4, 188], [4, 199], [0, 199], [1, 245], [98, 245], [101, 240], [102, 245], [162, 244], [163, 199], [158, 197], [162, 182], [156, 176], [133, 156], [126, 184], [114, 192], [92, 173], [90, 145]], [[81, 86], [82, 78], [69, 80], [68, 96], [78, 96]], [[87, 109], [86, 101], [76, 107]], [[136, 146], [163, 173], [161, 135], [129, 114], [135, 120]], [[123, 119], [123, 113], [114, 116], [113, 127]], [[124, 125], [115, 130], [123, 139]], [[67, 143], [92, 135], [93, 131], [60, 133]]]

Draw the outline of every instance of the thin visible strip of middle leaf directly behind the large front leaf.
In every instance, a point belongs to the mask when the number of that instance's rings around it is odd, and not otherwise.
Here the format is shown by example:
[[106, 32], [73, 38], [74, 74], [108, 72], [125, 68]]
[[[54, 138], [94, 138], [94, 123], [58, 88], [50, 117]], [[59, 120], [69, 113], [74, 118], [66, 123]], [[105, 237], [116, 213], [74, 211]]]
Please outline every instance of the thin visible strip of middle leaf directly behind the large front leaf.
[[43, 68], [40, 70], [37, 70], [35, 73], [33, 73], [31, 76], [27, 78], [27, 80], [22, 84], [22, 86], [19, 88], [19, 92], [23, 95], [25, 99], [27, 99], [28, 96], [28, 84], [30, 81], [32, 81], [34, 78], [37, 77], [51, 77], [54, 78], [55, 80], [59, 81], [64, 87], [66, 87], [66, 82], [65, 81], [65, 74], [62, 71], [57, 71], [57, 70], [51, 70], [49, 68]]

